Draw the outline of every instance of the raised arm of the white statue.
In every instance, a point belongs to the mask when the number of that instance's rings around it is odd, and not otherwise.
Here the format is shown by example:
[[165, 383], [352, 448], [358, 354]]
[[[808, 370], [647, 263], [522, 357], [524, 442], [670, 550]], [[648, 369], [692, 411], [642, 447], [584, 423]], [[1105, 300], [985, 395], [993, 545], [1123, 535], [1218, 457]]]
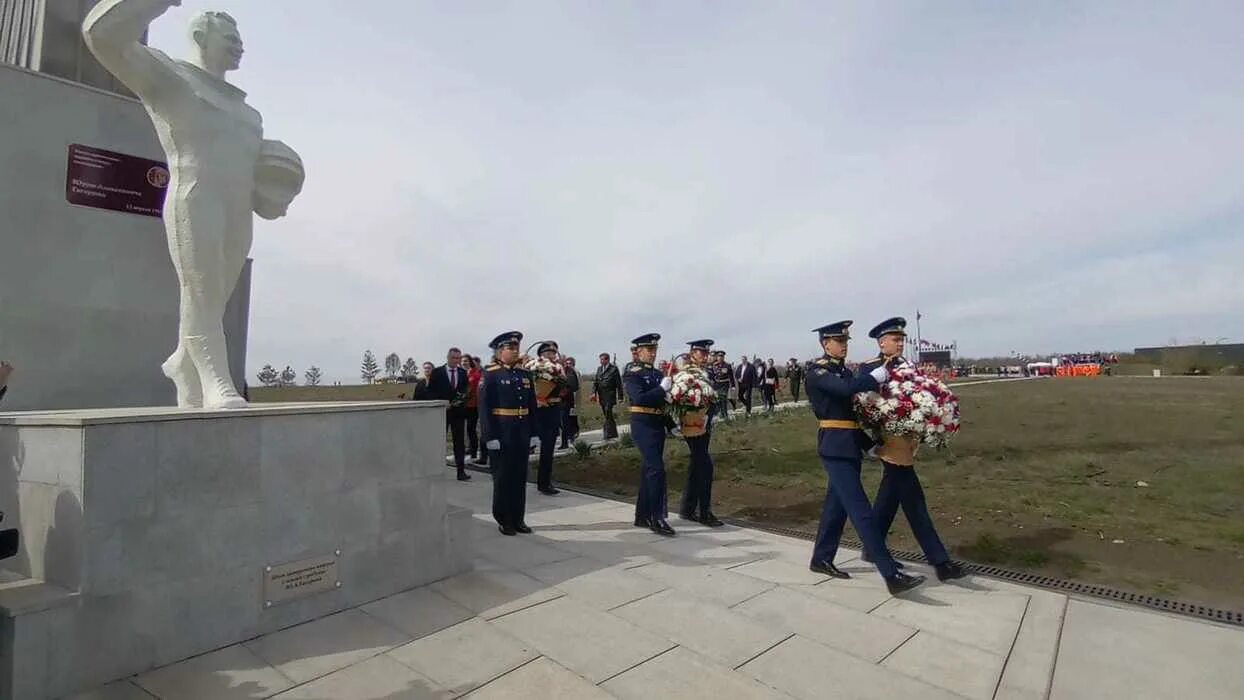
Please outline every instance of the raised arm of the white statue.
[[142, 44], [147, 27], [182, 0], [102, 0], [82, 22], [82, 37], [100, 63], [138, 96], [180, 82], [172, 60]]

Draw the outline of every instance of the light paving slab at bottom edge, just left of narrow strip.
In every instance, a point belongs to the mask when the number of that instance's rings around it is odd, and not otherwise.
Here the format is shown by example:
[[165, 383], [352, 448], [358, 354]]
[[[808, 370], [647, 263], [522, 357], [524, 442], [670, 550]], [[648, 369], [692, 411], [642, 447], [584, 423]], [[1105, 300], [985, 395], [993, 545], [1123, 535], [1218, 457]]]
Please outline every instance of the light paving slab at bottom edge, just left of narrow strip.
[[973, 700], [990, 700], [1005, 656], [921, 630], [881, 663]]

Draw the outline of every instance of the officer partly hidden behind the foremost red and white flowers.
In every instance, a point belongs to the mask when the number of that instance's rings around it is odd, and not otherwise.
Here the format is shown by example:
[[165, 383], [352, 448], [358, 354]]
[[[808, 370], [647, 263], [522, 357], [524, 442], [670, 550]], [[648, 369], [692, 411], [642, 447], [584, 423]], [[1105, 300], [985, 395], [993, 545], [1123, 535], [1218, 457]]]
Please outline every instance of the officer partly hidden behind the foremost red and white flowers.
[[[884, 366], [898, 367], [907, 363], [903, 358], [903, 343], [907, 341], [907, 320], [902, 316], [887, 318], [873, 326], [868, 331], [868, 337], [877, 341], [881, 353], [860, 366], [860, 372], [872, 372]], [[963, 567], [950, 561], [942, 538], [937, 535], [933, 518], [929, 516], [928, 504], [924, 501], [924, 489], [921, 479], [916, 475], [916, 448], [913, 439], [901, 436], [886, 436], [877, 446], [876, 454], [881, 458], [883, 467], [881, 486], [877, 489], [877, 499], [872, 504], [872, 516], [877, 521], [877, 531], [881, 532], [882, 541], [889, 535], [889, 526], [894, 523], [898, 506], [903, 507], [907, 522], [912, 526], [912, 535], [921, 543], [924, 557], [928, 558], [933, 568], [937, 569], [939, 581], [963, 578], [967, 572]], [[865, 561], [872, 558], [866, 553]]]

